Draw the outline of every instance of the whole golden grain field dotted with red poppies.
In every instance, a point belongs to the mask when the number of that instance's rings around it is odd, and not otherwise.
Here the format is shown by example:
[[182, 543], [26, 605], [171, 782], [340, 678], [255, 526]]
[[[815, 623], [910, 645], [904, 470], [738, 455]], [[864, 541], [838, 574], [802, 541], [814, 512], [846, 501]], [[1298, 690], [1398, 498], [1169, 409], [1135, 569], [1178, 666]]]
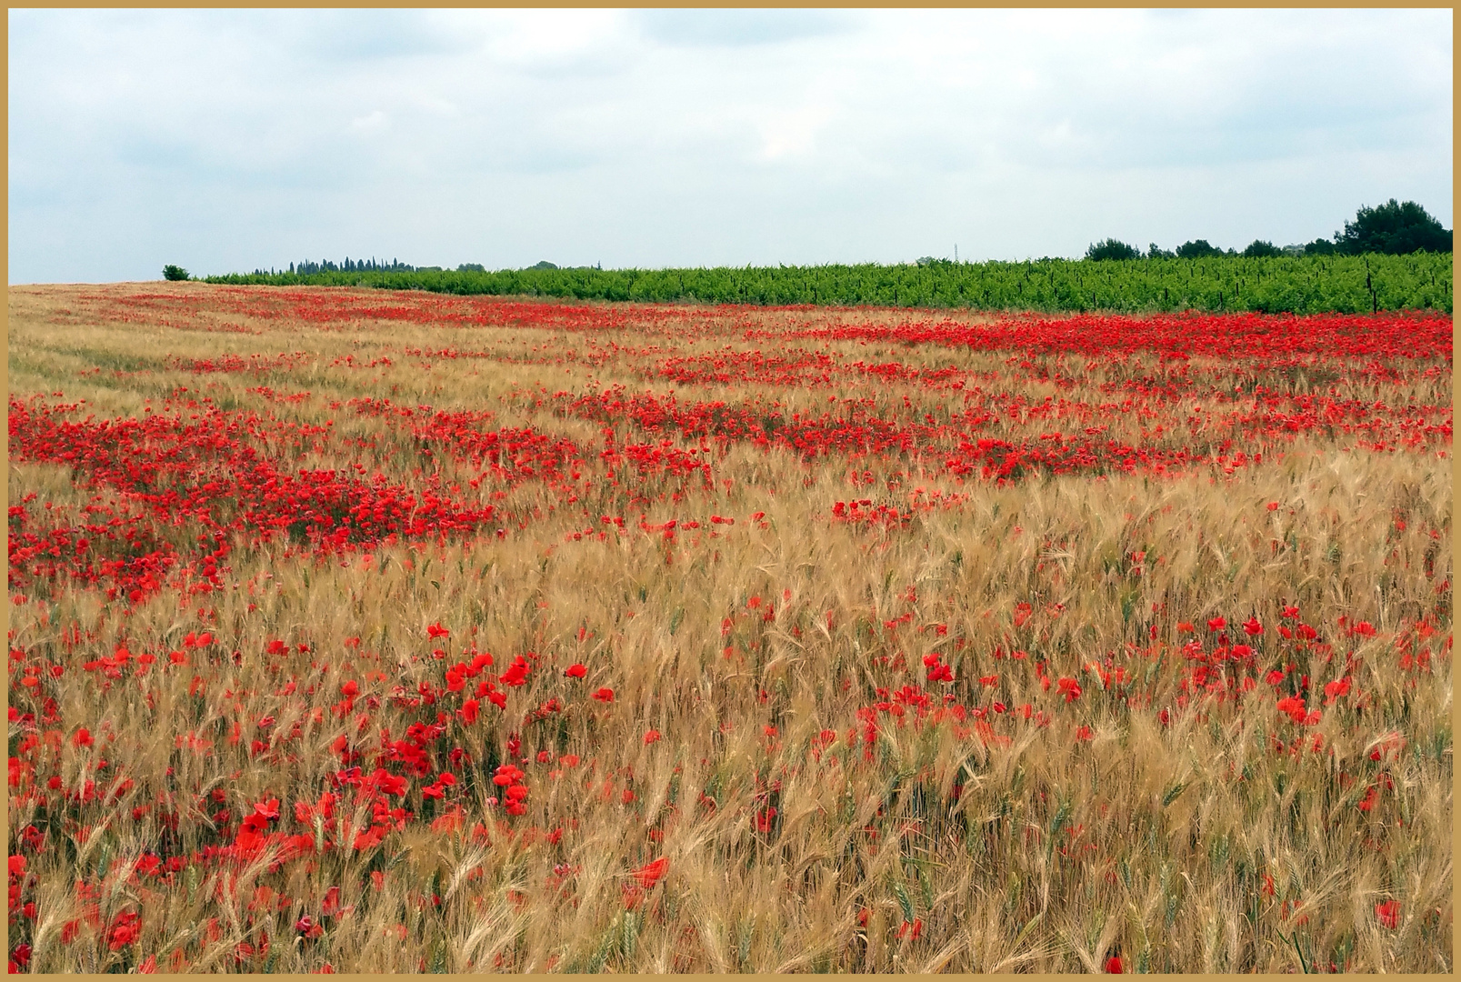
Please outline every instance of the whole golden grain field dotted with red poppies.
[[1452, 323], [12, 286], [12, 972], [1449, 972]]

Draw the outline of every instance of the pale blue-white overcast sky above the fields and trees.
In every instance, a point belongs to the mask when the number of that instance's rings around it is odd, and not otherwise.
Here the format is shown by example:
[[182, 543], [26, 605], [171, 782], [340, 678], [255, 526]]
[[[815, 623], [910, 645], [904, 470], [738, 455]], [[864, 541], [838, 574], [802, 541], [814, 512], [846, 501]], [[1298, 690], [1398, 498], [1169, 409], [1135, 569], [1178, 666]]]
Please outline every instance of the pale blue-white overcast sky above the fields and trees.
[[10, 282], [1452, 228], [1451, 10], [10, 10]]

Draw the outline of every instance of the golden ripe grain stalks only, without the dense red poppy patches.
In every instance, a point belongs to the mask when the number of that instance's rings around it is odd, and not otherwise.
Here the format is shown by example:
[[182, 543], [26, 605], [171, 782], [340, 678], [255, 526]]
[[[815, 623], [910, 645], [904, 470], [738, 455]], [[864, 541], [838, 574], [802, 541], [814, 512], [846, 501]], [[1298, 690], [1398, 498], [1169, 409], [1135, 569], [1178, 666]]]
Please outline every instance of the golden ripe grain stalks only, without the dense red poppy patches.
[[[41, 807], [12, 777], [10, 853], [29, 855], [25, 900], [35, 916], [12, 921], [10, 937], [12, 947], [22, 932], [28, 938], [31, 969], [107, 972], [155, 956], [159, 970], [1086, 972], [1119, 956], [1126, 970], [1145, 972], [1451, 970], [1449, 453], [1372, 453], [1315, 430], [1278, 447], [1280, 459], [1239, 433], [1239, 446], [1262, 449], [1265, 462], [1233, 475], [1202, 468], [1004, 487], [919, 473], [890, 456], [856, 468], [871, 471], [878, 491], [869, 498], [907, 501], [915, 485], [967, 497], [882, 532], [828, 520], [834, 501], [869, 487], [849, 484], [846, 462], [805, 465], [738, 443], [714, 454], [713, 492], [671, 478], [640, 488], [649, 523], [701, 523], [666, 541], [640, 533], [640, 509], [627, 506], [624, 487], [598, 482], [571, 507], [541, 482], [470, 488], [473, 468], [444, 453], [421, 457], [399, 421], [332, 403], [374, 396], [491, 409], [492, 425], [533, 425], [593, 447], [602, 427], [567, 415], [542, 390], [663, 392], [669, 386], [644, 371], [669, 355], [726, 345], [771, 352], [771, 342], [741, 339], [748, 323], [774, 330], [890, 314], [776, 311], [758, 320], [687, 308], [682, 321], [636, 324], [631, 316], [603, 335], [367, 320], [323, 329], [212, 308], [207, 297], [219, 294], [197, 285], [149, 286], [172, 298], [150, 308], [129, 300], [134, 292], [13, 288], [12, 396], [61, 392], [99, 418], [140, 416], [148, 402], [162, 411], [164, 397], [187, 387], [225, 409], [335, 419], [329, 446], [298, 466], [358, 460], [403, 482], [437, 469], [466, 500], [539, 514], [501, 539], [323, 558], [283, 542], [237, 548], [225, 589], [191, 599], [165, 589], [130, 612], [66, 582], [26, 585], [26, 599], [10, 608], [10, 647], [23, 652], [23, 661], [12, 652], [10, 706], [37, 704], [16, 684], [23, 665], [58, 663], [64, 674], [42, 685], [60, 720], [12, 720], [12, 760], [34, 731], [41, 742], [26, 753], [39, 791], [51, 773], [67, 789], [89, 777], [98, 789], [118, 776], [131, 782], [114, 804], [64, 805], [50, 792]], [[127, 311], [137, 320], [121, 321]], [[631, 351], [589, 358], [609, 342]], [[400, 354], [413, 348], [491, 357]], [[1112, 402], [1102, 383], [1151, 371], [1150, 359], [1106, 362], [1056, 390], [1018, 377], [1008, 352], [818, 348], [988, 373], [988, 390], [1017, 390], [1030, 403], [1050, 393]], [[267, 373], [186, 367], [297, 351], [304, 357]], [[332, 367], [345, 355], [393, 364]], [[1338, 365], [1337, 384], [1391, 405], [1445, 406], [1449, 424], [1451, 370], [1442, 365], [1441, 374], [1384, 383]], [[1192, 371], [1217, 378], [1224, 365]], [[310, 395], [270, 402], [250, 392], [259, 386]], [[958, 408], [948, 392], [852, 376], [815, 389], [674, 387], [681, 402], [780, 399], [783, 411], [821, 412], [828, 396], [872, 399], [880, 412], [909, 418]], [[1103, 422], [1121, 438], [1148, 431], [1159, 443], [1191, 444], [1204, 425], [1237, 425], [1223, 418], [1245, 403], [1194, 396], [1172, 409], [1173, 419], [1197, 418], [1195, 428], [1156, 437], [1151, 419], [1134, 412]], [[996, 422], [1011, 440], [1059, 425]], [[621, 441], [636, 433], [627, 421], [612, 428]], [[668, 435], [676, 446], [698, 443]], [[10, 503], [26, 494], [58, 516], [107, 497], [69, 469], [12, 460]], [[751, 520], [755, 511], [764, 520]], [[736, 523], [712, 526], [712, 513]], [[622, 516], [627, 533], [565, 541], [603, 528], [600, 514]], [[196, 532], [161, 535], [186, 542]], [[1145, 560], [1134, 563], [1135, 552]], [[1029, 620], [1017, 617], [1020, 604], [1030, 605]], [[1286, 605], [1325, 644], [1300, 652], [1283, 642], [1278, 625], [1297, 623], [1283, 618]], [[1265, 627], [1255, 642], [1261, 669], [1292, 662], [1294, 677], [1311, 680], [1312, 707], [1341, 677], [1353, 680], [1353, 697], [1324, 706], [1312, 726], [1278, 712], [1261, 674], [1240, 700], [1189, 701], [1182, 685], [1194, 665], [1182, 644], [1194, 636], [1179, 624], [1194, 624], [1211, 649], [1208, 618], [1224, 617], [1236, 633], [1251, 615]], [[1349, 634], [1340, 618], [1367, 621], [1375, 633]], [[444, 662], [431, 655], [441, 643], [428, 636], [434, 624], [451, 631]], [[85, 640], [67, 643], [72, 627]], [[165, 653], [200, 630], [213, 631], [216, 646], [196, 653], [191, 669], [168, 669]], [[358, 647], [345, 646], [352, 637]], [[266, 658], [275, 639], [311, 650]], [[164, 661], [108, 685], [83, 671], [123, 642]], [[330, 788], [342, 766], [332, 744], [348, 735], [371, 770], [383, 728], [399, 739], [408, 723], [434, 719], [434, 709], [393, 703], [394, 687], [440, 687], [469, 643], [495, 655], [492, 671], [524, 652], [539, 661], [506, 713], [484, 704], [481, 720], [449, 720], [435, 744], [432, 774], [447, 769], [451, 747], [487, 772], [457, 767], [463, 829], [434, 831], [441, 802], [424, 802], [428, 779], [412, 779], [406, 807], [418, 818], [380, 846], [285, 864], [269, 852], [251, 862], [200, 859], [171, 875], [134, 875], [143, 853], [191, 856], [231, 842], [210, 817], [219, 808], [234, 812], [237, 829], [256, 802], [278, 798], [276, 827], [307, 829], [292, 810]], [[1401, 668], [1398, 644], [1427, 650], [1427, 666]], [[1017, 661], [1014, 650], [1029, 656]], [[955, 682], [925, 682], [929, 653], [951, 665]], [[581, 681], [561, 672], [576, 662], [589, 669]], [[1046, 691], [1036, 662], [1052, 680], [1077, 678], [1083, 696], [1065, 703], [1056, 687]], [[1135, 681], [1103, 688], [1100, 671], [1115, 666]], [[986, 675], [998, 675], [992, 690], [980, 685]], [[194, 677], [202, 694], [193, 694]], [[348, 680], [359, 682], [359, 716], [336, 718], [330, 706]], [[991, 712], [985, 736], [973, 719], [878, 713], [865, 744], [859, 707], [878, 701], [880, 687], [910, 682], [925, 684], [935, 704], [948, 691], [969, 709], [998, 699], [1010, 712]], [[614, 690], [612, 703], [589, 699], [599, 687]], [[564, 703], [561, 713], [516, 722], [551, 697]], [[1027, 703], [1048, 725], [1018, 718]], [[275, 722], [262, 731], [266, 716]], [[75, 745], [82, 726], [95, 747]], [[1077, 738], [1083, 726], [1088, 739]], [[650, 729], [662, 739], [646, 742]], [[824, 729], [836, 742], [814, 754]], [[527, 812], [508, 818], [485, 804], [497, 791], [487, 777], [489, 763], [508, 758], [514, 732], [530, 793]], [[188, 750], [190, 734], [210, 741], [207, 750]], [[1403, 750], [1381, 742], [1391, 734]], [[267, 753], [250, 753], [257, 738]], [[1378, 748], [1385, 753], [1373, 761]], [[548, 763], [538, 763], [539, 750]], [[568, 754], [580, 763], [562, 763]], [[1362, 810], [1370, 786], [1381, 791]], [[755, 817], [767, 807], [776, 815], [763, 831]], [[348, 798], [342, 810], [354, 829], [370, 824], [364, 807], [349, 814]], [[472, 834], [476, 823], [482, 834]], [[20, 842], [31, 824], [45, 836], [41, 849]], [[546, 839], [560, 829], [558, 842]], [[663, 880], [636, 893], [633, 871], [660, 856], [669, 861]], [[329, 887], [339, 887], [332, 916]], [[1394, 926], [1376, 915], [1388, 900], [1400, 905]], [[142, 932], [112, 950], [108, 929], [124, 912], [140, 915]], [[321, 937], [301, 940], [304, 915], [323, 924]]]

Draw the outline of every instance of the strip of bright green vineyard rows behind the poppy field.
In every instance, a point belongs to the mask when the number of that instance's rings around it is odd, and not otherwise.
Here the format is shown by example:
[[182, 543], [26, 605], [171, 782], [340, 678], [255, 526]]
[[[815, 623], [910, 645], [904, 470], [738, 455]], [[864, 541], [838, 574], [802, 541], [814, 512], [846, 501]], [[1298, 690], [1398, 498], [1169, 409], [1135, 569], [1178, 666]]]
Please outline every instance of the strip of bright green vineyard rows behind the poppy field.
[[986, 311], [1451, 313], [1449, 253], [745, 269], [231, 273], [206, 282], [371, 286], [457, 295]]

